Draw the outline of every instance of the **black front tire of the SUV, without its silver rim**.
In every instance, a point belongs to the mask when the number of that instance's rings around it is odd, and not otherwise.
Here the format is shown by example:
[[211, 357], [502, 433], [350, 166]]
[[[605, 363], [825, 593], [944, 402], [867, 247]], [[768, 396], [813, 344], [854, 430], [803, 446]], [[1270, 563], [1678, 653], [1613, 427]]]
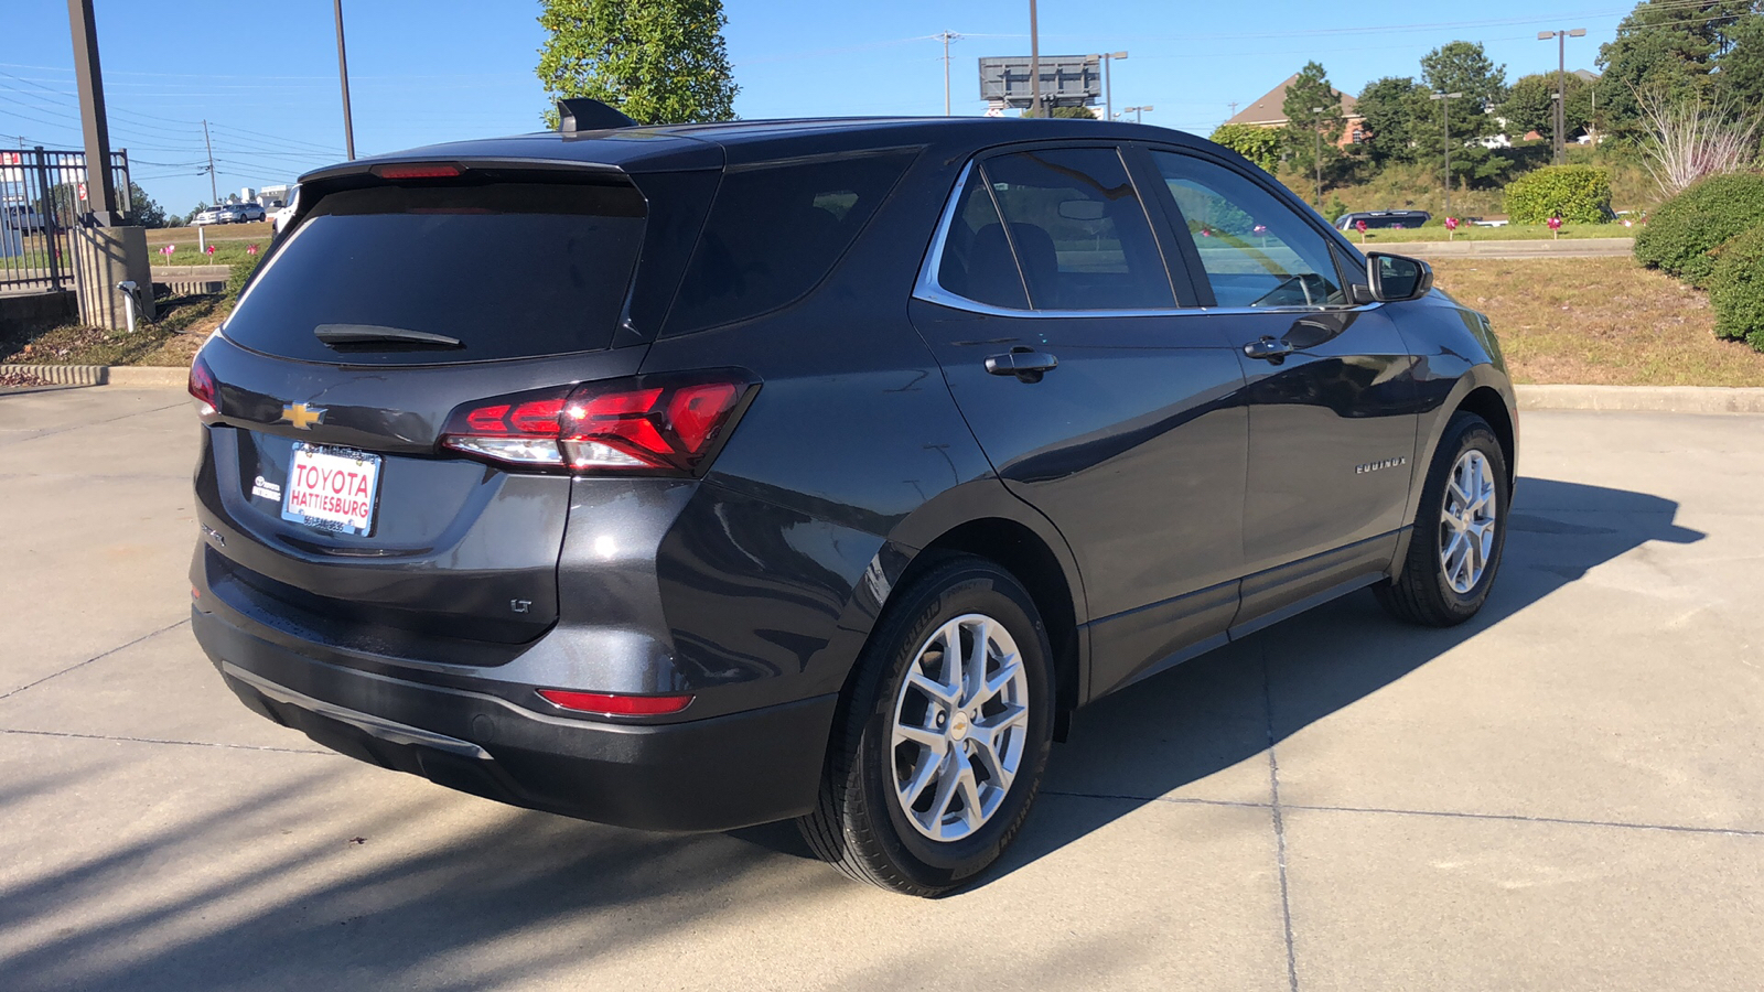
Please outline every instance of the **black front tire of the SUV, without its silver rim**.
[[[1494, 475], [1494, 545], [1482, 577], [1461, 593], [1448, 582], [1445, 565], [1439, 560], [1439, 528], [1443, 526], [1439, 514], [1445, 507], [1452, 468], [1473, 450], [1487, 459]], [[1506, 468], [1506, 452], [1501, 450], [1494, 429], [1475, 413], [1454, 413], [1439, 438], [1439, 447], [1434, 450], [1432, 464], [1427, 468], [1427, 482], [1422, 485], [1422, 503], [1415, 514], [1415, 530], [1409, 535], [1409, 551], [1402, 560], [1402, 570], [1397, 572], [1395, 579], [1372, 586], [1378, 602], [1397, 620], [1422, 627], [1455, 627], [1476, 616], [1489, 598], [1494, 575], [1501, 568], [1510, 500], [1512, 477]]]

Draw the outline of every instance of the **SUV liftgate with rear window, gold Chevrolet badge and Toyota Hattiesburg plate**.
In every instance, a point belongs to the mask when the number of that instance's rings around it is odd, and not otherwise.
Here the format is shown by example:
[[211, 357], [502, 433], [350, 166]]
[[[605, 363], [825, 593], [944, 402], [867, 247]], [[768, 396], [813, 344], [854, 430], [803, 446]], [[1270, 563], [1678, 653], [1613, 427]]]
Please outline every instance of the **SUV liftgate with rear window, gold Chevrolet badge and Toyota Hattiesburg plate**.
[[219, 387], [198, 473], [217, 595], [381, 653], [536, 637], [557, 618], [570, 477], [441, 436], [457, 411], [519, 434], [543, 425], [534, 390], [637, 372], [644, 348], [619, 337], [644, 196], [624, 177], [475, 169], [302, 196], [201, 353]]

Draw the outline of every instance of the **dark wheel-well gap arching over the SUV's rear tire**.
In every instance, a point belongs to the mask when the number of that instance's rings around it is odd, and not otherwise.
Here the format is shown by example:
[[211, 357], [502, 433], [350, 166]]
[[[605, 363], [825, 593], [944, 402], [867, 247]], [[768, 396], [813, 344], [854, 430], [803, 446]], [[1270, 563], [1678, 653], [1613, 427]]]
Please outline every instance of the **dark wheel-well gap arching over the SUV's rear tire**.
[[1016, 575], [1018, 582], [1028, 590], [1041, 612], [1041, 623], [1048, 628], [1048, 644], [1053, 648], [1055, 667], [1055, 740], [1065, 740], [1065, 725], [1078, 708], [1078, 614], [1073, 605], [1073, 588], [1065, 582], [1065, 570], [1060, 560], [1027, 526], [1002, 517], [968, 521], [933, 540], [912, 560], [901, 582], [935, 563], [947, 552], [974, 554], [997, 563], [1005, 572]]

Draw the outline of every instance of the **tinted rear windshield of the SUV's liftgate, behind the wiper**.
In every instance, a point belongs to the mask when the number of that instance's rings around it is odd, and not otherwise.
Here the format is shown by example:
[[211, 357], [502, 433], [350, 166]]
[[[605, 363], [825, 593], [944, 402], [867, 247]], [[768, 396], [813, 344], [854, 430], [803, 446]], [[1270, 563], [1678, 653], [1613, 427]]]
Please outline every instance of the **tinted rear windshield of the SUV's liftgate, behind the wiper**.
[[[416, 365], [607, 348], [644, 237], [630, 185], [374, 187], [318, 201], [226, 337], [309, 362]], [[459, 341], [326, 346], [353, 325]]]

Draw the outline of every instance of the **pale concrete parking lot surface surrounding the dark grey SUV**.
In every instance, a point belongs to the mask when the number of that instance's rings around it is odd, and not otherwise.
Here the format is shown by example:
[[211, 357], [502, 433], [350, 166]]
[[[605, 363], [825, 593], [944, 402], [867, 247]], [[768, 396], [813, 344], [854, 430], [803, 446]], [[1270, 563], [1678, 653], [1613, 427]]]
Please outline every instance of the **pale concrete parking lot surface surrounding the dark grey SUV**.
[[1357, 593], [1095, 704], [924, 902], [254, 717], [185, 620], [183, 394], [0, 395], [0, 987], [1757, 988], [1764, 417], [1522, 431], [1476, 621]]

